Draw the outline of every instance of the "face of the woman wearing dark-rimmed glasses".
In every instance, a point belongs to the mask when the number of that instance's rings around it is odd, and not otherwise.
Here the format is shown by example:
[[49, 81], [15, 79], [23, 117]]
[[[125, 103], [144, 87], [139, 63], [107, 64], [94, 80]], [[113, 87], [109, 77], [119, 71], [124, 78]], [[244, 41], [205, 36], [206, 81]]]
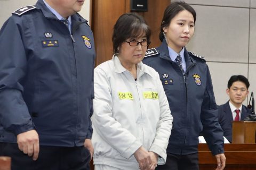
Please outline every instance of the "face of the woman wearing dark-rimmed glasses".
[[[141, 42], [141, 41], [147, 41], [147, 38], [146, 38], [146, 34], [143, 33], [142, 36], [140, 37], [130, 38], [125, 41]], [[138, 46], [130, 46], [129, 43], [125, 41], [122, 43], [121, 47], [119, 47], [119, 54], [118, 54], [119, 60], [125, 66], [138, 64], [145, 57], [147, 46], [141, 46], [141, 44], [139, 44]]]

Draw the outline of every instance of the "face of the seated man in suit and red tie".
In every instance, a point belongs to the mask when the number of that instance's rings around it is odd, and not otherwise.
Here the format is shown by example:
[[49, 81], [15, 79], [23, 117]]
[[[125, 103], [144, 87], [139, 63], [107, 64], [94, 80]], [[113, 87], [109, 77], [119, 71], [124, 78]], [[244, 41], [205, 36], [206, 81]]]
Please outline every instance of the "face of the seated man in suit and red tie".
[[234, 82], [230, 89], [227, 89], [226, 92], [227, 95], [229, 95], [230, 102], [234, 106], [238, 107], [242, 105], [243, 101], [249, 94], [249, 91], [247, 90], [245, 83], [241, 81]]

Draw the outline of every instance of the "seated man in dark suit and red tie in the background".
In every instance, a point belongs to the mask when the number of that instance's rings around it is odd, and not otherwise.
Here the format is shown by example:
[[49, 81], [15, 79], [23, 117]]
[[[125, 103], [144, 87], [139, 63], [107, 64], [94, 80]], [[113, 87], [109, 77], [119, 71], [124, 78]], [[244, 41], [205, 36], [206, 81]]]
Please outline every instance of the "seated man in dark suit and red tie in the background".
[[250, 83], [243, 75], [233, 75], [228, 81], [226, 90], [229, 101], [226, 104], [218, 106], [218, 121], [224, 132], [224, 136], [229, 142], [232, 142], [232, 122], [243, 121], [245, 117], [251, 114], [251, 110], [243, 105], [243, 101], [249, 94]]

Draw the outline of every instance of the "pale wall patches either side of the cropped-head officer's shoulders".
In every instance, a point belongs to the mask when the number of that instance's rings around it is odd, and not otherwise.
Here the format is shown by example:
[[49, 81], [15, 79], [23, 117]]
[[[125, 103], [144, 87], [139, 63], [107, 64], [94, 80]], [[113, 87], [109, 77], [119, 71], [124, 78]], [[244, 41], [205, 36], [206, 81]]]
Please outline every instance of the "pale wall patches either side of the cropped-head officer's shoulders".
[[[20, 7], [35, 5], [37, 0], [0, 0], [0, 27], [12, 15], [12, 12]], [[82, 10], [79, 12], [86, 20], [90, 20], [90, 0], [85, 0]], [[88, 22], [90, 23], [90, 21]]]

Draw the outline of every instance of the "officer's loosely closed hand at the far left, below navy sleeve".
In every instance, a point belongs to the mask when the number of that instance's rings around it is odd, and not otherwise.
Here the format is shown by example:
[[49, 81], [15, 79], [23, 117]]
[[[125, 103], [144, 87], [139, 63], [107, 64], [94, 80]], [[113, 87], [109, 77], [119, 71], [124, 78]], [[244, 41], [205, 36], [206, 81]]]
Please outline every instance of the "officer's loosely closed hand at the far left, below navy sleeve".
[[39, 137], [35, 130], [30, 130], [17, 135], [18, 147], [24, 154], [33, 156], [37, 160], [39, 154]]

